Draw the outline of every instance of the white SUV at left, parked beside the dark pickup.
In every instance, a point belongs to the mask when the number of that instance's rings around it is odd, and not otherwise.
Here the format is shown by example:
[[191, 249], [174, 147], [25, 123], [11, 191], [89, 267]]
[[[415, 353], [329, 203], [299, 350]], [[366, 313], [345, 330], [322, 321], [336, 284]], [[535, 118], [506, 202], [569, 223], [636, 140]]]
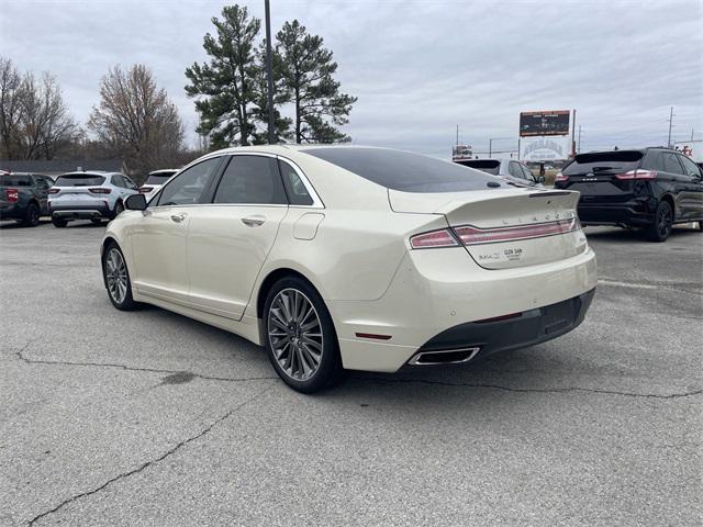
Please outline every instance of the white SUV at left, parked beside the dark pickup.
[[49, 189], [52, 223], [65, 227], [70, 220], [100, 223], [124, 211], [124, 200], [137, 193], [137, 187], [120, 172], [68, 172]]

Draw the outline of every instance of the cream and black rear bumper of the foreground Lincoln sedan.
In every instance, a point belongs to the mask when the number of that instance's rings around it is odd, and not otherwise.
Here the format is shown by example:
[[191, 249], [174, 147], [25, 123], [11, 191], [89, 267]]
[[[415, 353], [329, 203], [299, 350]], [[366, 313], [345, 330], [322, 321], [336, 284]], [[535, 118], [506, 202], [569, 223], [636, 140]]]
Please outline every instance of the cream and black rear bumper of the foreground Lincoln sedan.
[[393, 372], [423, 351], [479, 348], [478, 358], [562, 335], [583, 321], [595, 282], [590, 248], [501, 270], [482, 269], [464, 248], [411, 250], [381, 299], [327, 306], [344, 367]]

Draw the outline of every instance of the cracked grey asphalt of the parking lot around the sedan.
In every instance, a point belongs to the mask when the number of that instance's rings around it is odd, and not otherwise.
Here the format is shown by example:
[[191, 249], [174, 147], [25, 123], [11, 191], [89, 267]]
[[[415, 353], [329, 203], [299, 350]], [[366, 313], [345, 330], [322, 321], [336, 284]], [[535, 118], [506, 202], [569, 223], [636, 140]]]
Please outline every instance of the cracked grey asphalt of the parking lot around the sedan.
[[114, 310], [103, 228], [0, 227], [0, 525], [703, 523], [703, 236], [588, 228], [585, 322], [314, 396], [245, 340]]

